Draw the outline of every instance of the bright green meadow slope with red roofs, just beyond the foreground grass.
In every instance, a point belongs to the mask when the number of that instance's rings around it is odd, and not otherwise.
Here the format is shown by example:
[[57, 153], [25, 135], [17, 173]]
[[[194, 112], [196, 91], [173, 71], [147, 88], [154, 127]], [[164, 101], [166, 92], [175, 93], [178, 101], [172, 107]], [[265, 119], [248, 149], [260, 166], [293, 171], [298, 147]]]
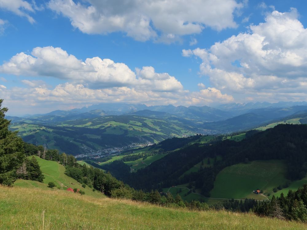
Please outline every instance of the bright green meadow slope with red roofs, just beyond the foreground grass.
[[[92, 197], [104, 197], [102, 193], [99, 191], [93, 192], [91, 188], [86, 186], [85, 188], [81, 187], [80, 183], [77, 182], [75, 179], [67, 176], [64, 174], [65, 167], [55, 161], [48, 161], [39, 158], [38, 156], [34, 156], [40, 167], [43, 175], [45, 176], [44, 183], [37, 182], [37, 181], [30, 181], [30, 180], [21, 180], [18, 179], [15, 181], [14, 186], [15, 187], [21, 187], [21, 188], [40, 188], [42, 190], [66, 190], [67, 188], [78, 188], [85, 192], [86, 195], [92, 196]], [[56, 187], [49, 188], [48, 183], [54, 182], [56, 184]], [[68, 192], [67, 192], [68, 193]]]

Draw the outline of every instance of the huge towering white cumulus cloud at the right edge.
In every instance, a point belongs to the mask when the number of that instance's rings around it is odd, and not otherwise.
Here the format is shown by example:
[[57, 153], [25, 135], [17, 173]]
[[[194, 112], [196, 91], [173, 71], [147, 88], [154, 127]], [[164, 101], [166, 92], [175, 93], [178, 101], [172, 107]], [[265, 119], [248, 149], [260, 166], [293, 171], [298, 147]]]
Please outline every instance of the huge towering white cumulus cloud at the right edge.
[[182, 56], [202, 59], [201, 74], [225, 92], [272, 100], [301, 92], [299, 100], [306, 100], [307, 29], [297, 17], [294, 8], [273, 11], [265, 22], [251, 25], [250, 33], [231, 36], [209, 49], [182, 50]]

